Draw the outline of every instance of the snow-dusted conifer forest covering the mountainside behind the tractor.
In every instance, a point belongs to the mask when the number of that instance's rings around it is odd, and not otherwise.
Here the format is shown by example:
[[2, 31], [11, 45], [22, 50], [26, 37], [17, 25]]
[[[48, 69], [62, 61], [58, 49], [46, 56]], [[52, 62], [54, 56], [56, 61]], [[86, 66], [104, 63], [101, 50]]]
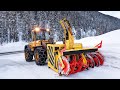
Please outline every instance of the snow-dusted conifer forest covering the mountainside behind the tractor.
[[98, 11], [0, 11], [0, 44], [31, 41], [34, 25], [50, 28], [51, 36], [62, 40], [62, 18], [70, 21], [76, 39], [120, 29], [118, 18]]

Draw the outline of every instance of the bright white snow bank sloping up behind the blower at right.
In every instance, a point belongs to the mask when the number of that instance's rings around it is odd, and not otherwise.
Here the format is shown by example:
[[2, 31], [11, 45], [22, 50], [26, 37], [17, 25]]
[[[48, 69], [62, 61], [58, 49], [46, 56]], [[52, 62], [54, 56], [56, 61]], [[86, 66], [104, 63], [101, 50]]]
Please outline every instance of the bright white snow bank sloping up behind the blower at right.
[[98, 43], [100, 43], [100, 41], [103, 41], [103, 47], [104, 46], [108, 46], [109, 45], [117, 45], [120, 44], [120, 30], [115, 30], [115, 31], [111, 31], [108, 32], [106, 34], [103, 35], [99, 35], [99, 36], [93, 36], [93, 37], [86, 37], [80, 40], [75, 40], [76, 43], [82, 43], [84, 47], [94, 47], [95, 45], [97, 45]]

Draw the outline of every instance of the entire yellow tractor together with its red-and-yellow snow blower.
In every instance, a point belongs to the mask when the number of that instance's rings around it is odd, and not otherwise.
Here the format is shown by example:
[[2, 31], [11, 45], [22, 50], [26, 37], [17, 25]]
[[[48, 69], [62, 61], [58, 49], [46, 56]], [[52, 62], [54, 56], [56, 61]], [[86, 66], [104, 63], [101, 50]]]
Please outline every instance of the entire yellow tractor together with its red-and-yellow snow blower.
[[32, 61], [34, 56], [37, 65], [44, 65], [47, 60], [49, 68], [59, 75], [66, 76], [88, 70], [89, 67], [103, 65], [104, 57], [98, 51], [98, 48], [102, 46], [102, 41], [93, 48], [83, 48], [82, 43], [74, 43], [69, 21], [64, 18], [60, 20], [60, 24], [64, 30], [62, 44], [54, 43], [53, 39], [39, 38], [38, 32], [48, 33], [49, 30], [35, 28], [32, 31], [33, 41], [26, 45], [24, 50], [26, 61]]

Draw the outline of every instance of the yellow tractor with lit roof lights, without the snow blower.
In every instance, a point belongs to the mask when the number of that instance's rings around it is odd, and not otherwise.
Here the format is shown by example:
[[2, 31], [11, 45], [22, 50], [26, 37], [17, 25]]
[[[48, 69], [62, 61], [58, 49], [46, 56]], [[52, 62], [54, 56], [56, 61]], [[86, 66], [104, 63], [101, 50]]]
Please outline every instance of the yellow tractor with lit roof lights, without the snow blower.
[[46, 64], [47, 44], [53, 43], [50, 38], [50, 30], [35, 26], [31, 32], [32, 42], [24, 47], [25, 60], [33, 61], [33, 57], [37, 65]]

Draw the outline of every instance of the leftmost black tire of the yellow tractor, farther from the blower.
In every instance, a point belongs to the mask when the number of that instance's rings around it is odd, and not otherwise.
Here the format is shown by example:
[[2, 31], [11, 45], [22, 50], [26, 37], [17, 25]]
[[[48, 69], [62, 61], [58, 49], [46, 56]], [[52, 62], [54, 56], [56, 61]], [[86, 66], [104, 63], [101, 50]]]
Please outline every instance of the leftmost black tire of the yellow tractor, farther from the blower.
[[33, 52], [31, 51], [28, 45], [26, 45], [24, 48], [24, 54], [25, 54], [25, 60], [27, 62], [31, 62], [33, 60]]

